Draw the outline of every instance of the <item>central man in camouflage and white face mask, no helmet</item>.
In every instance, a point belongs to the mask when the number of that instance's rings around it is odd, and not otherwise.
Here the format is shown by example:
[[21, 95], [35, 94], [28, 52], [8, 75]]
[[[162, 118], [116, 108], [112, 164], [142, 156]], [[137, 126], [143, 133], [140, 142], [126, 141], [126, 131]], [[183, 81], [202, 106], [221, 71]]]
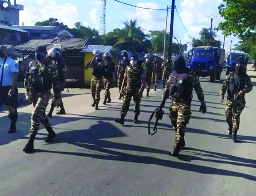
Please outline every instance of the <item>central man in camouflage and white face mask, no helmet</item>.
[[[134, 100], [134, 123], [138, 123], [138, 116], [140, 114], [141, 93], [146, 85], [146, 76], [142, 67], [138, 65], [138, 57], [133, 55], [131, 57], [131, 65], [125, 69], [124, 81], [122, 83], [121, 94], [124, 91], [124, 104], [121, 109], [121, 118], [115, 119], [115, 122], [124, 125], [124, 117], [129, 110], [130, 102], [133, 97]], [[124, 87], [126, 88], [124, 89]]]

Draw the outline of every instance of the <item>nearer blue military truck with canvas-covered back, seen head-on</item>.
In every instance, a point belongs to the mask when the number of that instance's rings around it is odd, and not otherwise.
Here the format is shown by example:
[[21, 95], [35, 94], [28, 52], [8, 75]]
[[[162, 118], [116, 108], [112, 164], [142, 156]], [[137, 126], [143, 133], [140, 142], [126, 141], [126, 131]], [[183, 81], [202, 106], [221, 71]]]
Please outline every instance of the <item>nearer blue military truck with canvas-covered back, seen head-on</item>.
[[[188, 55], [189, 56], [189, 55]], [[212, 46], [192, 48], [186, 66], [195, 71], [198, 77], [210, 76], [210, 82], [220, 80], [224, 66], [225, 50]]]

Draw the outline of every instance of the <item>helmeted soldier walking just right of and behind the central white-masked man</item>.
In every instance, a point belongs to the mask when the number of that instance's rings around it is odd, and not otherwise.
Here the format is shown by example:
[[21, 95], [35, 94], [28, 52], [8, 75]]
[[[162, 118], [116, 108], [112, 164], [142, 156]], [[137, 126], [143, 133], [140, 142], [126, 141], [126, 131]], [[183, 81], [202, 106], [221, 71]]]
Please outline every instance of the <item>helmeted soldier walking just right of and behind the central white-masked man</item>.
[[152, 83], [152, 72], [153, 72], [153, 63], [150, 61], [151, 57], [149, 54], [145, 55], [145, 60], [146, 62], [143, 62], [142, 64], [142, 68], [145, 71], [145, 75], [146, 75], [146, 84], [147, 84], [147, 97], [149, 97], [149, 91], [150, 91], [150, 85]]

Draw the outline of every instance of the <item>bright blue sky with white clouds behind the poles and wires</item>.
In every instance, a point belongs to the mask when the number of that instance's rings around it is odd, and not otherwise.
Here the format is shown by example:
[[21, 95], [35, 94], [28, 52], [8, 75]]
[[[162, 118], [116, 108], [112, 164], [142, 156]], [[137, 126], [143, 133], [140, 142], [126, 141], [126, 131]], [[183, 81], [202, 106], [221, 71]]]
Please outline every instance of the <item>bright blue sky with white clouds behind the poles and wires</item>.
[[[171, 0], [120, 0], [139, 7], [154, 9], [167, 8], [171, 6]], [[14, 0], [11, 0], [14, 2]], [[106, 0], [106, 32], [115, 28], [123, 28], [126, 20], [137, 19], [144, 33], [149, 30], [164, 30], [166, 23], [166, 11], [155, 11], [140, 9], [123, 5], [114, 0]], [[17, 4], [24, 6], [20, 12], [20, 25], [34, 25], [37, 21], [45, 21], [49, 18], [58, 18], [59, 22], [73, 28], [75, 22], [81, 22], [85, 26], [95, 28], [103, 32], [101, 21], [101, 0], [16, 0]], [[176, 0], [175, 5], [178, 12], [174, 13], [174, 36], [181, 43], [187, 43], [191, 48], [191, 38], [199, 38], [199, 32], [204, 27], [210, 28], [211, 21], [207, 17], [217, 16], [213, 21], [213, 28], [218, 26], [223, 18], [218, 15], [218, 5], [222, 0]], [[171, 10], [169, 10], [171, 11]], [[171, 12], [168, 13], [167, 31], [170, 29]], [[181, 17], [181, 20], [179, 16]], [[183, 22], [183, 27], [181, 21]], [[186, 30], [185, 30], [186, 29]], [[224, 36], [221, 31], [216, 32], [217, 39], [223, 43]], [[237, 37], [228, 36], [225, 39], [225, 50], [230, 51], [240, 40]], [[175, 40], [174, 40], [175, 42]]]

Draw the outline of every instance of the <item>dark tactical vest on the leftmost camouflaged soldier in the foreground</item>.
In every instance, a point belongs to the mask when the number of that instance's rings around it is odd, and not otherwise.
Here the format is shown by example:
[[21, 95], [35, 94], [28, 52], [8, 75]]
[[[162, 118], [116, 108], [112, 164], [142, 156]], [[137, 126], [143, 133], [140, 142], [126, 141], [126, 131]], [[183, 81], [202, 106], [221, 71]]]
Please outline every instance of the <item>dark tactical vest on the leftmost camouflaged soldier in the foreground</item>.
[[49, 92], [52, 88], [51, 74], [48, 71], [48, 65], [31, 66], [26, 73], [28, 86], [32, 92]]

